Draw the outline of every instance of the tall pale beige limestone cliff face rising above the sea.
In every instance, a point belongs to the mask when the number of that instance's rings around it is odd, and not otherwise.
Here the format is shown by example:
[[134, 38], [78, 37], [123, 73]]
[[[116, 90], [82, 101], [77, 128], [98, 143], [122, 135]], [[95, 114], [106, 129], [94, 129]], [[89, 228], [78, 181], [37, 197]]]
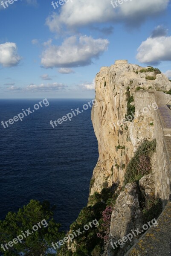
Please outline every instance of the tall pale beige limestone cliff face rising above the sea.
[[[121, 187], [126, 167], [139, 144], [143, 139], [154, 139], [156, 100], [154, 97], [151, 105], [146, 102], [140, 108], [135, 96], [137, 87], [140, 90], [168, 91], [171, 82], [160, 72], [148, 67], [142, 70], [142, 67], [127, 61], [116, 61], [111, 67], [102, 67], [96, 75], [98, 105], [92, 109], [92, 122], [99, 144], [99, 160], [93, 171], [90, 195], [113, 183]], [[135, 105], [135, 115], [132, 112], [127, 116], [128, 93], [136, 98], [136, 102], [130, 103]], [[170, 101], [169, 95], [166, 101], [165, 104]], [[133, 122], [129, 121], [131, 119]]]

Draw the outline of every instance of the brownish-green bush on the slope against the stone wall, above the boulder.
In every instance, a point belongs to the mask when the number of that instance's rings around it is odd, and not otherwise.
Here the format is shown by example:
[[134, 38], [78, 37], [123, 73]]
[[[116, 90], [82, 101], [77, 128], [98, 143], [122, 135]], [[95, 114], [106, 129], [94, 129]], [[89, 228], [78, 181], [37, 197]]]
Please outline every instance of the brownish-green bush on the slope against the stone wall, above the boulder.
[[145, 140], [130, 160], [125, 173], [124, 184], [138, 181], [142, 176], [151, 172], [151, 155], [156, 151], [156, 140]]

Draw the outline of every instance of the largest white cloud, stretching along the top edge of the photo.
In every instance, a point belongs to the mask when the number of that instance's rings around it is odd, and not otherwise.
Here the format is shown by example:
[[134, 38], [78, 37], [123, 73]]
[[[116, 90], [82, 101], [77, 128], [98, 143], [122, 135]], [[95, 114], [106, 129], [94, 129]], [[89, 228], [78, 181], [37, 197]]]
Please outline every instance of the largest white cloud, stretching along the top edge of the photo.
[[63, 26], [75, 29], [94, 23], [125, 22], [137, 26], [147, 17], [157, 15], [168, 6], [169, 0], [136, 0], [118, 4], [113, 8], [109, 0], [74, 0], [61, 6], [61, 12], [47, 17], [46, 25], [52, 32], [59, 32]]

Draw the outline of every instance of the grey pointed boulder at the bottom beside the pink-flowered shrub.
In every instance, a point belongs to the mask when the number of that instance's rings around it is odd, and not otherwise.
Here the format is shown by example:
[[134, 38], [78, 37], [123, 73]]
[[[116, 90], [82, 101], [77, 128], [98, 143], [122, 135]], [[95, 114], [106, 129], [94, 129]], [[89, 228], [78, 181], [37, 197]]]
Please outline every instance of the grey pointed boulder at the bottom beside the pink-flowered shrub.
[[[110, 225], [110, 240], [107, 256], [123, 256], [125, 252], [137, 241], [138, 236], [132, 236], [122, 245], [117, 244], [119, 239], [142, 227], [142, 211], [139, 206], [138, 187], [136, 183], [128, 183], [117, 198], [112, 212]], [[116, 245], [114, 244], [116, 242]]]

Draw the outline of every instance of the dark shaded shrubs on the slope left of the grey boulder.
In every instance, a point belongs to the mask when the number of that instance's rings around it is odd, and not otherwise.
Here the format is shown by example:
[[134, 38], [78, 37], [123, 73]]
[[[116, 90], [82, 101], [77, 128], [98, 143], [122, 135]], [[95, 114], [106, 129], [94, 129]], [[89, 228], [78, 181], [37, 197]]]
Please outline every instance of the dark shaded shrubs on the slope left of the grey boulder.
[[[116, 203], [117, 195], [114, 193], [116, 186], [111, 188], [102, 189], [101, 193], [95, 192], [89, 198], [89, 206], [84, 207], [76, 221], [74, 221], [70, 230], [81, 230], [85, 224], [97, 220], [99, 226], [93, 226], [85, 233], [80, 234], [75, 237], [73, 241], [77, 244], [77, 249], [73, 256], [99, 256], [102, 253], [102, 248], [104, 246], [104, 240], [97, 236], [97, 233], [101, 233], [104, 230], [104, 212], [107, 208], [113, 207]], [[67, 254], [68, 253], [68, 254]], [[68, 250], [67, 244], [61, 246], [58, 251], [58, 256], [70, 256], [71, 251]], [[98, 254], [100, 253], [100, 254]]]

